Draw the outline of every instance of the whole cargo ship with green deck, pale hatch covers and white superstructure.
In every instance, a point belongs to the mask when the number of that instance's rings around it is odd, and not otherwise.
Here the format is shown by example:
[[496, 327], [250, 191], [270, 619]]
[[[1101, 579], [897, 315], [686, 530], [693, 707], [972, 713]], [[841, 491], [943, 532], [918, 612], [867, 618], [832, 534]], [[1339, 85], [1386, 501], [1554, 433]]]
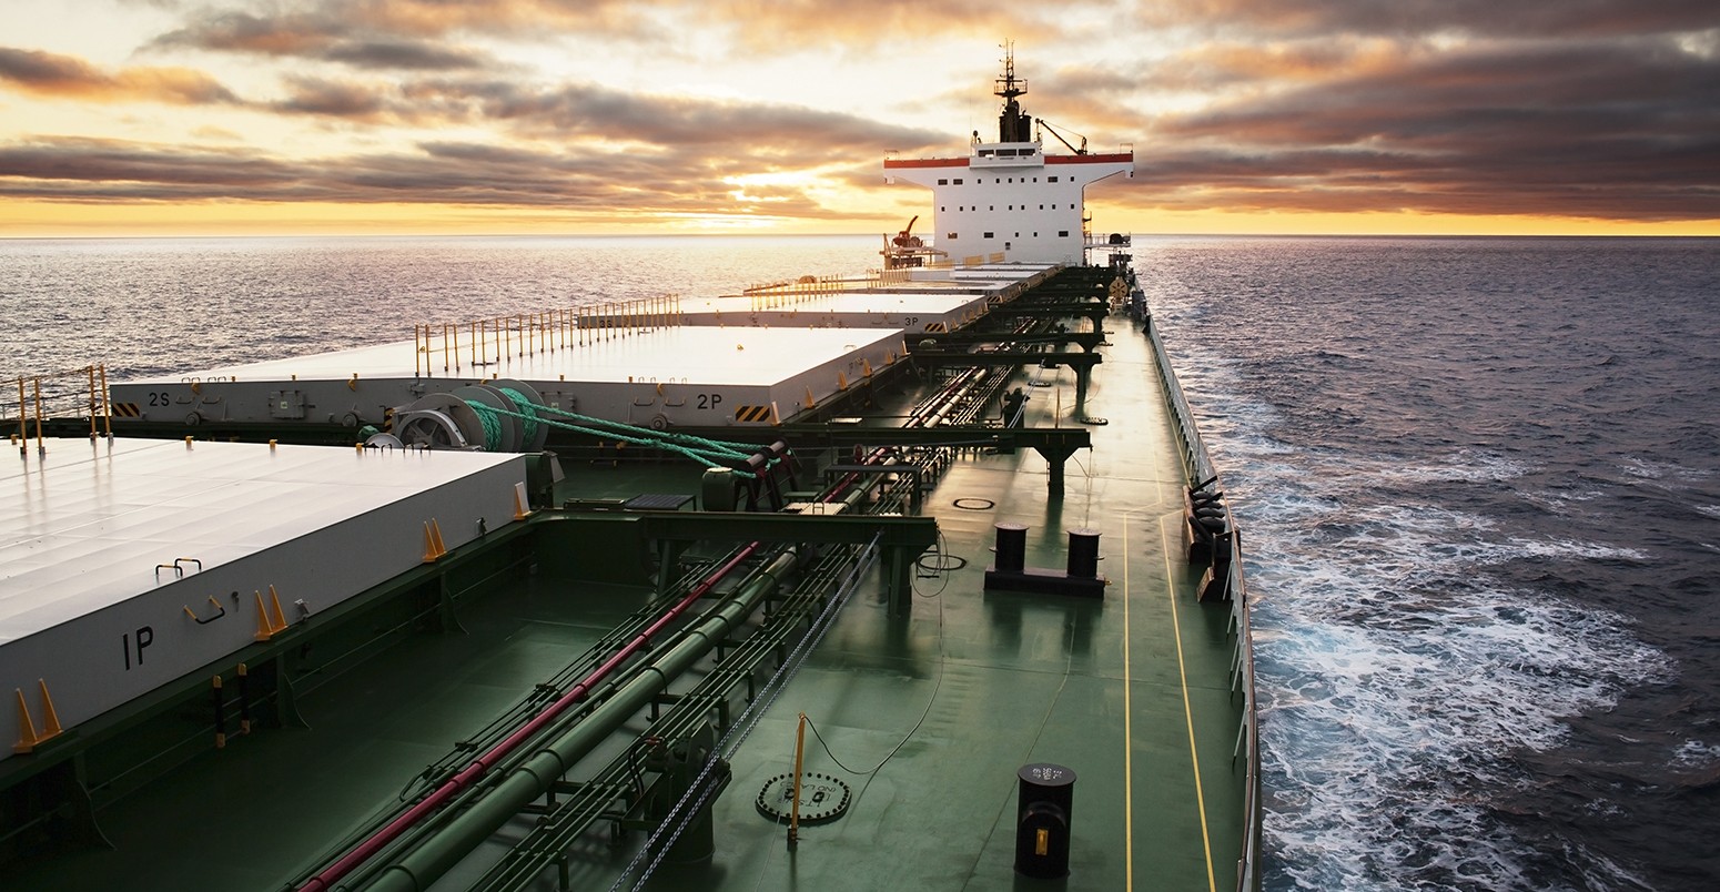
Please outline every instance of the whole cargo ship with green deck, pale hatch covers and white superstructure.
[[865, 275], [17, 376], [5, 885], [1257, 889], [1133, 155], [1025, 93]]

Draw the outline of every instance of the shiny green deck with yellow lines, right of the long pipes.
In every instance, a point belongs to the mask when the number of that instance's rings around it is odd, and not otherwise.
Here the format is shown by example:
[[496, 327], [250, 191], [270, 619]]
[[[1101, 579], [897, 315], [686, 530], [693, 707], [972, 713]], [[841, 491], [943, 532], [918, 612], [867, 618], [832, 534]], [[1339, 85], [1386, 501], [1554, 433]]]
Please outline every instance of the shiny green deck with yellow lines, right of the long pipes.
[[[1245, 767], [1232, 760], [1240, 694], [1228, 605], [1194, 602], [1199, 574], [1176, 557], [1185, 478], [1158, 373], [1146, 339], [1111, 325], [1121, 330], [1089, 397], [1109, 423], [1072, 461], [1063, 498], [1047, 498], [1034, 452], [956, 461], [925, 510], [967, 565], [948, 581], [917, 579], [906, 624], [877, 600], [851, 605], [738, 755], [710, 866], [722, 887], [1235, 887]], [[1056, 387], [1032, 388], [1029, 425], [1051, 425], [1060, 397], [1056, 423], [1073, 425], [1073, 373], [1044, 376]], [[963, 510], [956, 498], [996, 507]], [[1030, 526], [1029, 567], [1061, 569], [1066, 529], [1097, 529], [1104, 598], [984, 591], [996, 522]], [[870, 784], [808, 736], [805, 770], [848, 780], [858, 799], [843, 818], [802, 828], [789, 852], [752, 796], [793, 770], [798, 712], [860, 770], [922, 712], [925, 722]], [[1034, 761], [1077, 773], [1066, 883], [1013, 873], [1015, 772]]]

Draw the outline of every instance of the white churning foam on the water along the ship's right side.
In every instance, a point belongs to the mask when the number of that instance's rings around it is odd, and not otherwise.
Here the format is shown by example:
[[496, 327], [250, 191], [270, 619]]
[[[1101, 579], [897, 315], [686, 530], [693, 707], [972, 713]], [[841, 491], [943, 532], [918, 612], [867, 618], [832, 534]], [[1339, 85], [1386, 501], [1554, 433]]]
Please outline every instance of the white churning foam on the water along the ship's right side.
[[[1319, 890], [1538, 885], [1524, 856], [1533, 846], [1491, 816], [1490, 791], [1529, 782], [1514, 751], [1560, 746], [1565, 717], [1610, 706], [1667, 658], [1627, 617], [1507, 586], [1490, 569], [1646, 555], [1512, 535], [1404, 495], [1536, 471], [1519, 459], [1300, 450], [1262, 433], [1278, 412], [1242, 395], [1223, 361], [1192, 366], [1197, 416], [1232, 423], [1209, 447], [1257, 600], [1271, 873]], [[1596, 873], [1624, 875], [1617, 865]]]

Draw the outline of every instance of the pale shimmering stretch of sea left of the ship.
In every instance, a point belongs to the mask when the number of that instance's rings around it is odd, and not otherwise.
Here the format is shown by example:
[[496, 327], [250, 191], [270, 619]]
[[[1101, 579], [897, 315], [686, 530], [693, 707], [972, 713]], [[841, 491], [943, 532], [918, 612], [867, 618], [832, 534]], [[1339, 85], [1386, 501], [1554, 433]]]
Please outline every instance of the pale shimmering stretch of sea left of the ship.
[[193, 373], [411, 340], [415, 325], [707, 297], [877, 266], [877, 239], [0, 239], [0, 375]]

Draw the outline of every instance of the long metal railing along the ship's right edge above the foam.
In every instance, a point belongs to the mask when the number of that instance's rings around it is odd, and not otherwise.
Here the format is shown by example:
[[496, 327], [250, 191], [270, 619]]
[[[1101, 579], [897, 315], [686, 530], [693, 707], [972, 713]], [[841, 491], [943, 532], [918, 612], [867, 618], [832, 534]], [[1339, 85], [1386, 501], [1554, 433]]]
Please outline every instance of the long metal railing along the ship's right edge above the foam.
[[[1152, 344], [1152, 359], [1158, 364], [1159, 376], [1164, 380], [1164, 397], [1170, 404], [1176, 431], [1182, 437], [1183, 469], [1190, 480], [1211, 480], [1216, 483], [1219, 478], [1218, 469], [1213, 466], [1213, 455], [1206, 450], [1201, 431], [1194, 425], [1194, 412], [1189, 409], [1189, 399], [1176, 380], [1176, 370], [1171, 368], [1164, 340], [1159, 339], [1159, 330], [1152, 323], [1151, 315], [1146, 321], [1147, 340]], [[1261, 822], [1264, 804], [1261, 797], [1259, 712], [1254, 700], [1254, 627], [1249, 622], [1249, 591], [1242, 579], [1242, 531], [1228, 504], [1225, 505], [1225, 519], [1232, 529], [1232, 557], [1226, 584], [1232, 598], [1232, 622], [1237, 627], [1237, 648], [1240, 651], [1237, 670], [1240, 672], [1242, 686], [1242, 727], [1237, 734], [1237, 749], [1247, 744], [1245, 758], [1249, 772], [1244, 791], [1242, 852], [1237, 858], [1237, 892], [1256, 892], [1261, 889]]]

